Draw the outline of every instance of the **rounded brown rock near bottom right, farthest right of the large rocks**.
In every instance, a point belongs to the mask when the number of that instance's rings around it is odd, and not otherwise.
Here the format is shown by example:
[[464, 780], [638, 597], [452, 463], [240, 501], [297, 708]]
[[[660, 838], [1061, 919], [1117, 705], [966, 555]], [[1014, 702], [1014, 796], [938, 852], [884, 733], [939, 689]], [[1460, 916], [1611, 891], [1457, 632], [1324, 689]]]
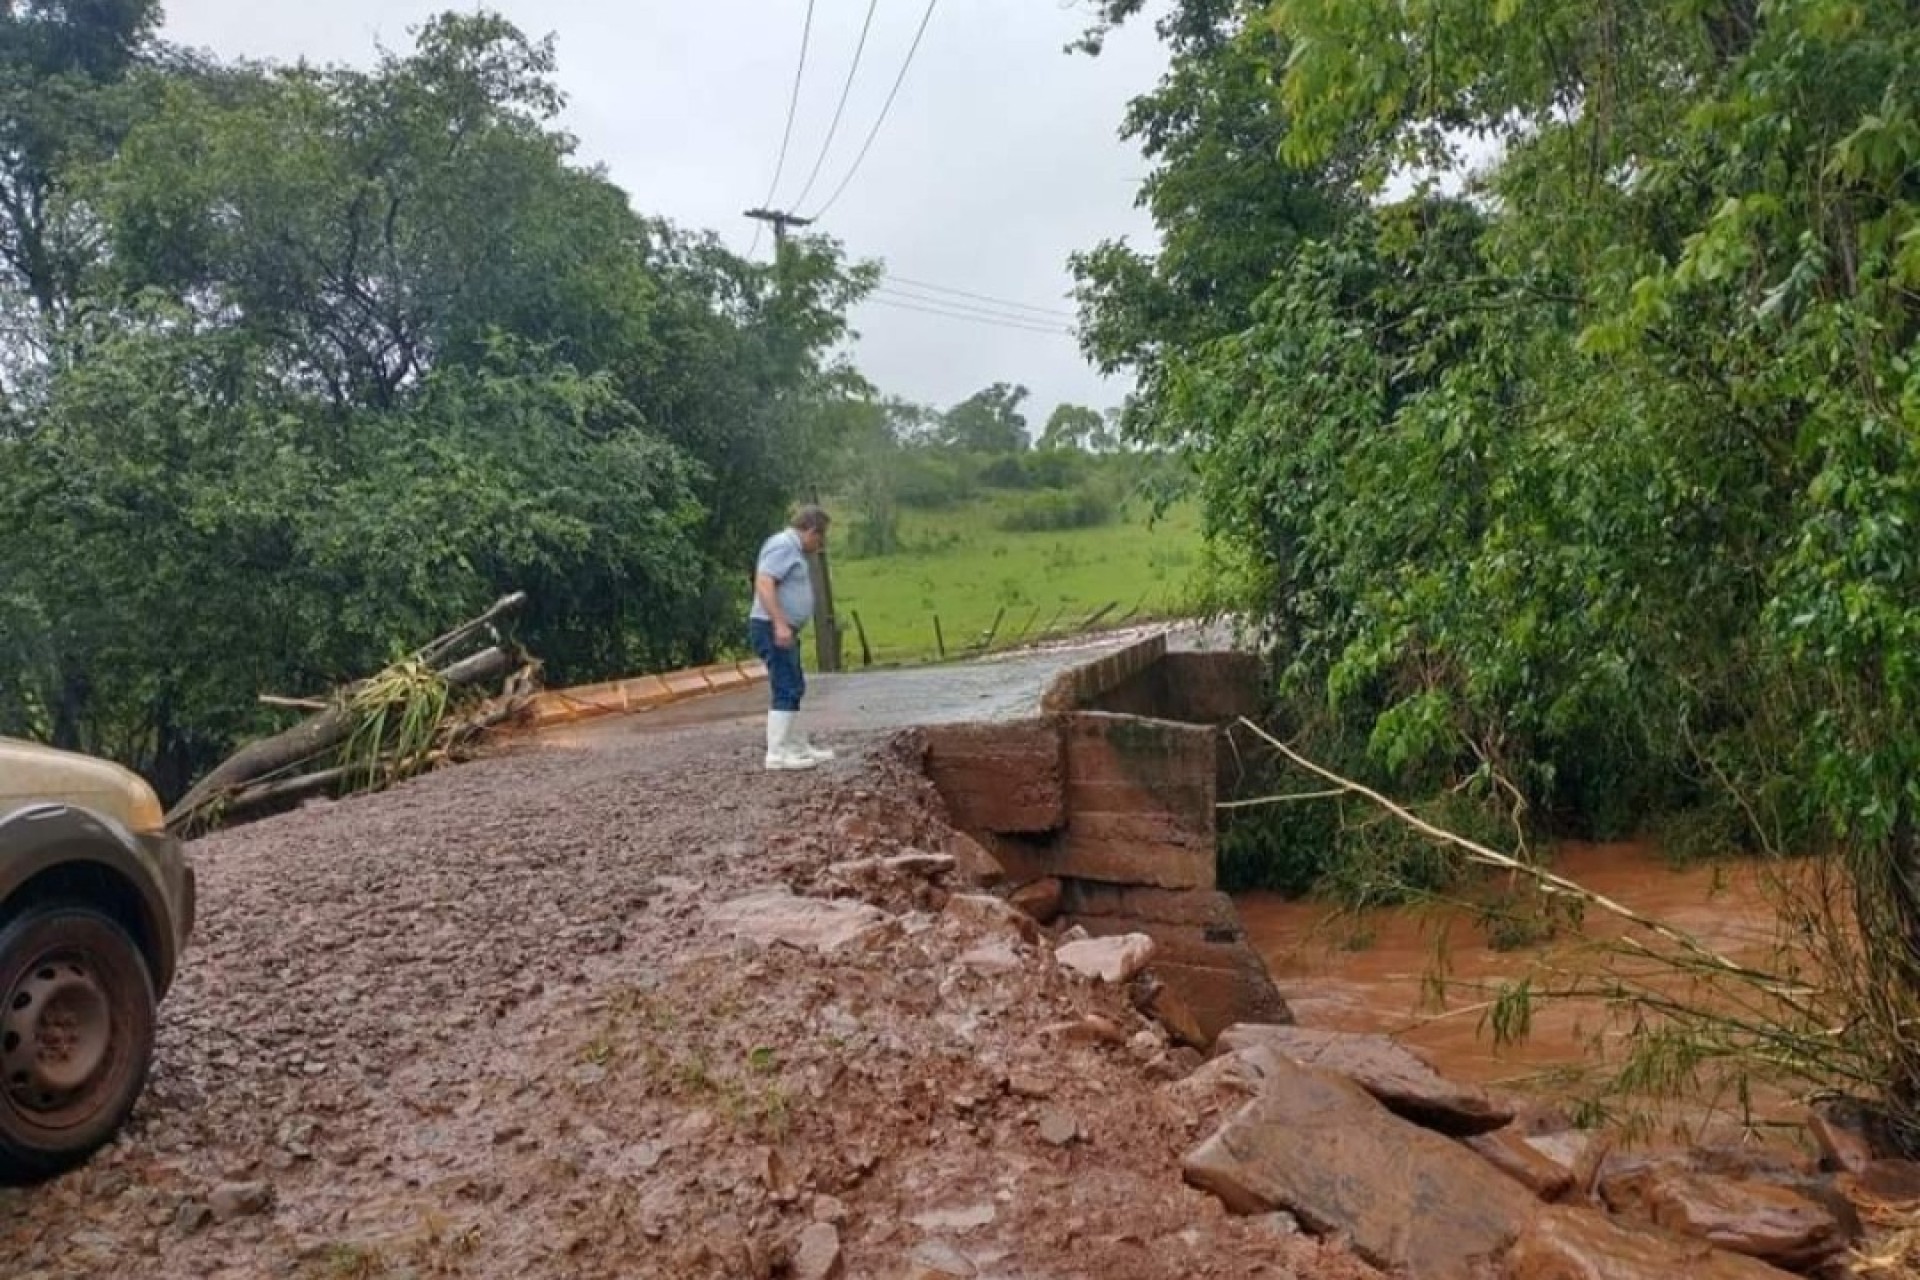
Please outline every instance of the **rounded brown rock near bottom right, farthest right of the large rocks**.
[[1605, 1178], [1599, 1194], [1615, 1213], [1788, 1268], [1818, 1267], [1849, 1244], [1826, 1205], [1766, 1182], [1653, 1163]]

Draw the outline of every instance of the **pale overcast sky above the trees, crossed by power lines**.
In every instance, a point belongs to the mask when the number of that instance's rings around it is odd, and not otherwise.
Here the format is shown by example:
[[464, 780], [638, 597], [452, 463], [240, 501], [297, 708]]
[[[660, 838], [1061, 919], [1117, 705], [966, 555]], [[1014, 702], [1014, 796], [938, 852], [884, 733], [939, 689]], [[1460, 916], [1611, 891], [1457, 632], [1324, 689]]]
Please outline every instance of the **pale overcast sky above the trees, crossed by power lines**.
[[[351, 61], [403, 50], [409, 29], [447, 0], [167, 0], [169, 40], [225, 58]], [[741, 217], [768, 194], [793, 92], [806, 0], [495, 0], [522, 31], [553, 35], [568, 96], [563, 125], [580, 157], [645, 213], [718, 230], [739, 251]], [[799, 201], [868, 13], [866, 0], [814, 0], [806, 75], [776, 207], [812, 215], [841, 184], [920, 27], [922, 0], [876, 0], [866, 54], [820, 177]], [[1062, 46], [1087, 25], [1062, 0], [937, 2], [899, 98], [866, 163], [818, 228], [849, 253], [908, 280], [1071, 311], [1066, 259], [1102, 238], [1150, 244], [1133, 207], [1144, 173], [1117, 127], [1165, 58], [1146, 23], [1100, 58]], [[758, 253], [768, 253], [762, 236]], [[899, 280], [904, 294], [948, 297]], [[914, 303], [906, 303], [912, 307]], [[948, 307], [950, 309], [950, 307]], [[993, 307], [998, 311], [998, 307]], [[1064, 330], [1068, 315], [1031, 315]], [[1069, 336], [975, 324], [868, 303], [854, 359], [887, 393], [947, 407], [991, 382], [1033, 390], [1035, 428], [1058, 401], [1108, 407]]]

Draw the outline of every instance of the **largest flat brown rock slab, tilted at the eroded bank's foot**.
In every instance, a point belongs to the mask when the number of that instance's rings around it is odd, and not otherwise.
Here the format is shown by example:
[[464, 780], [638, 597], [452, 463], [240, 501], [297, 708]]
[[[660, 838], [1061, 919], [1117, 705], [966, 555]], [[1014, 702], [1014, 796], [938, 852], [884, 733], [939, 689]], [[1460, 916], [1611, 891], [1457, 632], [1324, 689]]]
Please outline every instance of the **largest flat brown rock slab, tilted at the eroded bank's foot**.
[[1235, 1213], [1286, 1209], [1317, 1234], [1346, 1236], [1375, 1267], [1421, 1280], [1486, 1274], [1538, 1213], [1524, 1188], [1346, 1077], [1269, 1046], [1240, 1055], [1261, 1077], [1260, 1096], [1185, 1161], [1187, 1180]]

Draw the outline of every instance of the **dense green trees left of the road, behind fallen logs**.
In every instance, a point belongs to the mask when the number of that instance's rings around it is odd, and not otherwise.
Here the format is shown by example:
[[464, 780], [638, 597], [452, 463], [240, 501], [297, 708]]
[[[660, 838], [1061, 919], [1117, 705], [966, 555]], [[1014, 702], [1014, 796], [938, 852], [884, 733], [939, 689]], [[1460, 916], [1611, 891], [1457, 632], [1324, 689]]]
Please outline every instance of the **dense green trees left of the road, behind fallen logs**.
[[179, 793], [513, 589], [553, 679], [732, 643], [874, 273], [637, 215], [499, 17], [367, 71], [156, 25], [0, 8], [0, 731]]

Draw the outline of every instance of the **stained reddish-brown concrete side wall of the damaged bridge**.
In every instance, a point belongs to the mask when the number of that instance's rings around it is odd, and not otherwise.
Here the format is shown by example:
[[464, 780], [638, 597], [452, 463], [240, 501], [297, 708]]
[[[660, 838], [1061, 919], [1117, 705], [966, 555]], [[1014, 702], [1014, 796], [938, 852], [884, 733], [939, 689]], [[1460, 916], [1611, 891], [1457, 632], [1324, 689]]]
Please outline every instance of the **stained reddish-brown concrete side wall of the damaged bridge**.
[[1179, 1006], [1167, 1021], [1202, 1048], [1236, 1021], [1292, 1021], [1215, 889], [1225, 725], [1261, 697], [1252, 654], [1154, 637], [1062, 674], [1037, 718], [924, 729], [954, 823], [1016, 885], [1058, 881], [1089, 933], [1152, 935], [1154, 977]]

